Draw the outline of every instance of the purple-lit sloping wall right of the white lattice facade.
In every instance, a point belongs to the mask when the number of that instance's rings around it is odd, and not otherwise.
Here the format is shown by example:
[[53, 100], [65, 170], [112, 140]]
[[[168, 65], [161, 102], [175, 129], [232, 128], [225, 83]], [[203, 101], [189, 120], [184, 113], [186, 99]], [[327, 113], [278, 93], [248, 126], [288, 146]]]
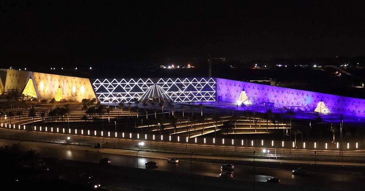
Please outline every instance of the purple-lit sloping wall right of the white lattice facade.
[[236, 103], [245, 89], [251, 105], [271, 102], [275, 108], [292, 108], [313, 112], [319, 101], [323, 101], [331, 114], [365, 117], [365, 100], [296, 90], [285, 87], [262, 85], [216, 78], [217, 96], [220, 101]]

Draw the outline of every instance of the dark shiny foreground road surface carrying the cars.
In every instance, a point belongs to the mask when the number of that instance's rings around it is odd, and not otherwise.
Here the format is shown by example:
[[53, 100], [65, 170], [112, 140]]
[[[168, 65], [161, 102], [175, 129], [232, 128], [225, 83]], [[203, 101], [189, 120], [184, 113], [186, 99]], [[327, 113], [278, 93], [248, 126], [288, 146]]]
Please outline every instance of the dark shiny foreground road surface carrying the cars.
[[[137, 158], [134, 156], [115, 155], [110, 153], [100, 153], [103, 149], [96, 149], [85, 146], [66, 145], [66, 144], [51, 144], [32, 141], [16, 141], [1, 139], [0, 145], [20, 143], [26, 150], [36, 149], [41, 156], [56, 157], [59, 159], [84, 161], [97, 163], [102, 157], [112, 159], [113, 165], [123, 167], [137, 168]], [[174, 157], [171, 154], [171, 157]], [[181, 160], [178, 164], [167, 163], [166, 159], [138, 157], [138, 167], [145, 169], [146, 161], [156, 161], [160, 164], [157, 169], [147, 169], [149, 171], [165, 171], [174, 174], [190, 174], [191, 168], [194, 175], [219, 177], [220, 164], [200, 163], [189, 160]], [[192, 164], [192, 167], [191, 167]], [[322, 190], [328, 188], [331, 190], [358, 190], [365, 186], [364, 175], [346, 175], [346, 174], [327, 174], [310, 172], [305, 176], [292, 175], [291, 171], [269, 168], [255, 168], [237, 166], [234, 169], [234, 179], [243, 181], [252, 181], [253, 174], [257, 182], [265, 182], [270, 176], [275, 176], [281, 179], [281, 184], [292, 185], [297, 188], [315, 187], [316, 181], [318, 187]]]

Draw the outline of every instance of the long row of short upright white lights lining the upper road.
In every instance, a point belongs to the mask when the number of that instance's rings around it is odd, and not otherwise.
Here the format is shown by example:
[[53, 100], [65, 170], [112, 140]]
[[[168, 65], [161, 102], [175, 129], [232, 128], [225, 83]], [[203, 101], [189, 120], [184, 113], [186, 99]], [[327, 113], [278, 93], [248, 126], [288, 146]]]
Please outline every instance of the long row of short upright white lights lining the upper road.
[[[3, 123], [1, 123], [1, 127], [3, 127]], [[11, 124], [9, 124], [9, 125], [5, 124], [5, 128], [7, 128], [7, 127], [9, 127], [11, 129]], [[13, 129], [16, 129], [15, 124], [13, 124]], [[21, 129], [20, 125], [18, 125], [18, 129]], [[23, 126], [23, 129], [26, 130], [25, 125]], [[37, 130], [36, 126], [34, 126], [34, 130]], [[55, 130], [57, 131], [57, 133], [60, 132], [60, 129], [58, 127]], [[42, 126], [39, 126], [39, 131], [42, 131]], [[44, 131], [49, 132], [49, 128], [45, 127]], [[53, 127], [51, 127], [50, 131], [54, 132]], [[62, 133], [65, 133], [65, 128], [62, 128]], [[71, 129], [68, 129], [68, 133], [71, 134]], [[77, 135], [77, 133], [78, 133], [78, 130], [75, 129], [74, 134]], [[90, 130], [88, 130], [87, 135], [90, 135], [90, 133], [92, 133], [92, 132], [90, 132]], [[84, 135], [84, 130], [83, 129], [81, 129], [80, 134]], [[93, 134], [96, 136], [97, 131], [94, 130]], [[115, 135], [115, 137], [117, 137], [117, 135], [118, 135], [117, 132], [114, 132], [114, 135]], [[104, 136], [103, 131], [101, 131], [101, 136], [102, 137]], [[108, 137], [110, 137], [110, 131], [108, 131]], [[125, 137], [124, 133], [122, 133], [122, 137], [123, 138]], [[129, 138], [132, 139], [132, 133], [129, 133]], [[137, 133], [137, 139], [139, 139], [139, 133]], [[152, 139], [155, 140], [155, 135], [152, 136]], [[164, 136], [161, 135], [161, 141], [163, 141], [163, 139], [164, 139]], [[147, 134], [145, 134], [145, 140], [147, 140]], [[171, 135], [169, 135], [169, 141], [171, 141]], [[188, 143], [189, 142], [189, 137], [185, 137], [185, 141], [186, 141], [186, 143]], [[180, 136], [177, 136], [177, 142], [180, 142]], [[196, 137], [195, 137], [194, 142], [197, 143], [197, 138]], [[204, 144], [206, 144], [206, 143], [207, 143], [207, 141], [204, 138]], [[213, 138], [213, 144], [215, 144], [215, 138]], [[222, 144], [224, 145], [224, 138], [222, 139]], [[232, 139], [231, 144], [234, 145], [234, 139]], [[241, 145], [243, 146], [243, 139], [241, 140]], [[254, 146], [254, 141], [253, 140], [251, 140], [251, 146], [252, 147]], [[264, 146], [264, 140], [261, 140], [261, 146]], [[271, 141], [271, 146], [274, 147], [274, 140]], [[284, 141], [282, 141], [281, 146], [284, 147]], [[294, 141], [293, 141], [292, 146], [293, 146], [293, 148], [295, 148], [295, 142]], [[324, 145], [325, 149], [327, 149], [327, 146], [328, 146], [327, 143], [325, 143], [325, 145]], [[339, 148], [339, 143], [338, 142], [336, 143], [336, 147]], [[306, 148], [306, 142], [303, 142], [303, 148], [304, 149]], [[316, 142], [314, 142], [314, 148], [317, 149], [317, 143]], [[358, 143], [356, 143], [356, 148], [358, 148]], [[347, 149], [350, 149], [350, 143], [347, 143]]]

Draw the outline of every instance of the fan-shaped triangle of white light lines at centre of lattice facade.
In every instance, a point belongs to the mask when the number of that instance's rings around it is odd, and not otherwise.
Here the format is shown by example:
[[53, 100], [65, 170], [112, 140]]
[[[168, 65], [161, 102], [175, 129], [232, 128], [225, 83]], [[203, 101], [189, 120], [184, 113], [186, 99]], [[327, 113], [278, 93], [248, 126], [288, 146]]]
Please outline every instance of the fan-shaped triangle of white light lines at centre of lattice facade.
[[142, 95], [139, 101], [153, 101], [153, 102], [169, 102], [172, 99], [166, 92], [162, 89], [160, 85], [154, 84], [150, 86], [147, 91]]

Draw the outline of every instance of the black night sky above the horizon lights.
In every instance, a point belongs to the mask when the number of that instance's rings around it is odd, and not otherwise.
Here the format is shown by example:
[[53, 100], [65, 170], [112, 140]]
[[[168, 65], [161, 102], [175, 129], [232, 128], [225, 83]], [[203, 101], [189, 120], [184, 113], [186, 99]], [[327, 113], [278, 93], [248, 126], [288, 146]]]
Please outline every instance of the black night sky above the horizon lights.
[[365, 6], [356, 1], [93, 2], [1, 1], [1, 65], [123, 65], [207, 53], [244, 62], [365, 52]]

